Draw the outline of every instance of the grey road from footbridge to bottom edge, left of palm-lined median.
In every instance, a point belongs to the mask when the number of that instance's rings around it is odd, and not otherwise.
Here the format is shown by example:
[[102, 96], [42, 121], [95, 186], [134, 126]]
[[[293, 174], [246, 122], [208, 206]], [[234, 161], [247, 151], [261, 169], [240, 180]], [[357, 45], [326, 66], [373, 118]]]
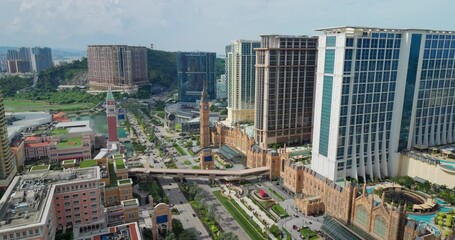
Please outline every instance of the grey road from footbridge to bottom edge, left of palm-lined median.
[[185, 229], [193, 230], [197, 239], [212, 239], [191, 205], [186, 201], [185, 196], [180, 192], [177, 183], [172, 178], [158, 178], [158, 180], [169, 198], [169, 204], [180, 212], [179, 215], [173, 215], [173, 218], [180, 220]]

